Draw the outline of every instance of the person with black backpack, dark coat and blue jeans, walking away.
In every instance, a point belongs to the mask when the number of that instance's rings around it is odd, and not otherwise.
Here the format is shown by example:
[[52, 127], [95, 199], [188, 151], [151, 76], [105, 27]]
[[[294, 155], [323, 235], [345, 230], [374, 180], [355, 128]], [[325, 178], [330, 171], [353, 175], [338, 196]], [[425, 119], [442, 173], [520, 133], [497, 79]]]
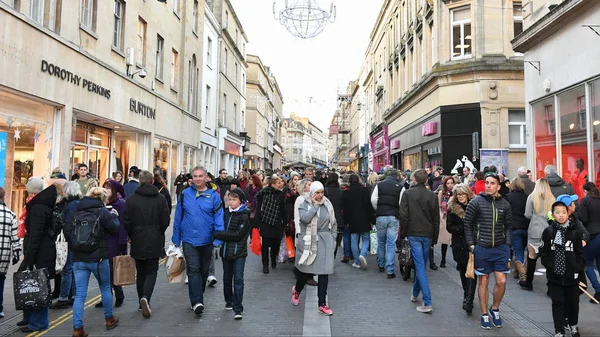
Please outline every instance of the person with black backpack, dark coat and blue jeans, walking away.
[[107, 203], [106, 190], [94, 187], [79, 201], [73, 222], [65, 223], [65, 237], [73, 249], [73, 272], [77, 288], [73, 303], [73, 337], [88, 335], [83, 327], [83, 312], [90, 274], [94, 275], [100, 286], [106, 329], [112, 330], [119, 324], [119, 318], [112, 312], [106, 237], [118, 233], [120, 224], [117, 211], [114, 208], [109, 211], [105, 206]]

